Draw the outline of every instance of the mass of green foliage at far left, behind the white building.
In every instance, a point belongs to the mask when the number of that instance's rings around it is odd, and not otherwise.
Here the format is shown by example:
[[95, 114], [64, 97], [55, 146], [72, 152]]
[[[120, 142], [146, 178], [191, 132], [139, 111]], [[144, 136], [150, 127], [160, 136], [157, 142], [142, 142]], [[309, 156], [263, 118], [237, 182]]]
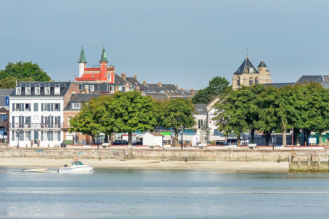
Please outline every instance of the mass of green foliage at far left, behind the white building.
[[18, 81], [51, 81], [43, 69], [36, 63], [30, 62], [9, 62], [5, 69], [0, 70], [0, 88], [14, 88]]

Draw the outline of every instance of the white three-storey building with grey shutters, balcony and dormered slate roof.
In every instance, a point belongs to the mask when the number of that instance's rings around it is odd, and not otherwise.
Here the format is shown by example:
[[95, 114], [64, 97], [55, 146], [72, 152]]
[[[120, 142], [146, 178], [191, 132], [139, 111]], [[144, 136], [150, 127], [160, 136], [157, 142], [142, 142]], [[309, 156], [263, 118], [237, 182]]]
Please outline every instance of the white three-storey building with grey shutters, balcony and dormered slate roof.
[[41, 147], [60, 144], [64, 99], [78, 89], [74, 82], [20, 82], [9, 96], [10, 146], [30, 147], [31, 141], [37, 146], [38, 140]]

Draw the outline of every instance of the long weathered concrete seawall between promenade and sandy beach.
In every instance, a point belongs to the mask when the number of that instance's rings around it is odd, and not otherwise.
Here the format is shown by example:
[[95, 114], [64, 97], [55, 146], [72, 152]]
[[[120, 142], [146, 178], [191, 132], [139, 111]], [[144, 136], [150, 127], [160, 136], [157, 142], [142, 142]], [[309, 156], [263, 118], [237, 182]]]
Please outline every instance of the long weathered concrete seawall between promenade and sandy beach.
[[[122, 150], [123, 151], [123, 150]], [[0, 157], [26, 157], [49, 159], [116, 159], [120, 150], [111, 149], [1, 149]], [[209, 150], [209, 149], [133, 149], [128, 157], [133, 159], [173, 161], [288, 161], [290, 151], [284, 150]]]

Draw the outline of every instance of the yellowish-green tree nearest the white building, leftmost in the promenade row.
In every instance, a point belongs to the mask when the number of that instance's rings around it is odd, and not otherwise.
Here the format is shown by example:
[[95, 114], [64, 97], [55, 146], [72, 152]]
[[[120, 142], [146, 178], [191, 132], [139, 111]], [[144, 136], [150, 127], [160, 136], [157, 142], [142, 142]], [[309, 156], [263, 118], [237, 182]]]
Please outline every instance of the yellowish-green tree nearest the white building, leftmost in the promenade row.
[[[90, 135], [91, 144], [95, 144], [95, 135], [99, 133], [106, 133], [108, 130], [99, 122], [99, 112], [101, 111], [99, 98], [91, 98], [88, 102], [83, 104], [80, 112], [70, 120], [70, 128], [68, 131], [80, 132], [82, 134]], [[99, 133], [98, 133], [99, 130]]]

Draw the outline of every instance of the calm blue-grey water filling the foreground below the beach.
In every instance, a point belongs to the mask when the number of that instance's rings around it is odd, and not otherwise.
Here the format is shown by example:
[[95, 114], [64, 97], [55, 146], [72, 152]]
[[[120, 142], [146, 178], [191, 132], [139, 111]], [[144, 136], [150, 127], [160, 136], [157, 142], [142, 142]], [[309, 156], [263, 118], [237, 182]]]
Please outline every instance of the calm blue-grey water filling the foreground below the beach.
[[0, 218], [328, 218], [328, 173], [48, 170], [0, 167]]

